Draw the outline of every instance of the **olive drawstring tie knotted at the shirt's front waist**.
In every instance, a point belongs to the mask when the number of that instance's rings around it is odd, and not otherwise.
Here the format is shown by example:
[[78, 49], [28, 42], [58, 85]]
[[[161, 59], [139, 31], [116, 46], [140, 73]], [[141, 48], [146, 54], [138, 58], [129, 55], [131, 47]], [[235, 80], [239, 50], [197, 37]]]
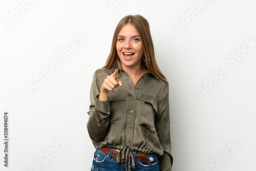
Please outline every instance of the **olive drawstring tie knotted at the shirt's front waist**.
[[[122, 158], [120, 159], [120, 153], [122, 152]], [[127, 170], [127, 161], [129, 165], [129, 171], [132, 171], [132, 168], [135, 169], [135, 163], [134, 163], [134, 156], [133, 152], [131, 151], [131, 148], [129, 146], [125, 146], [122, 149], [120, 149], [120, 153], [117, 155], [117, 161], [120, 162], [124, 159], [125, 155], [125, 170]], [[132, 168], [131, 168], [131, 159], [132, 159]]]

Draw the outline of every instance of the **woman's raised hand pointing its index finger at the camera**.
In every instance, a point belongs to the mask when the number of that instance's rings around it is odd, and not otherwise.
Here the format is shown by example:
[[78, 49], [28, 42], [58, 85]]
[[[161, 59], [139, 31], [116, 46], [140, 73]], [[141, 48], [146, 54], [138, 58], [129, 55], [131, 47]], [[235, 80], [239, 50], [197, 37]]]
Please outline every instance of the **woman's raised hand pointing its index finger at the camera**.
[[122, 86], [123, 81], [117, 80], [117, 74], [118, 70], [115, 70], [113, 74], [107, 76], [106, 79], [104, 79], [98, 98], [100, 101], [107, 101], [109, 92], [113, 92], [115, 88]]

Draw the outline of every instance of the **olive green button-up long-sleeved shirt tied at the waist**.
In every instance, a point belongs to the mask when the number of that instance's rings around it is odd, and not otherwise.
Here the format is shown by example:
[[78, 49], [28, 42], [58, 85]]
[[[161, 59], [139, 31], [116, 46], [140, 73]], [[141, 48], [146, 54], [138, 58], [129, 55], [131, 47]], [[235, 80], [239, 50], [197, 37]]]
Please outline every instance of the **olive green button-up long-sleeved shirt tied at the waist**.
[[[100, 101], [102, 83], [113, 72], [99, 69], [93, 76], [87, 129], [94, 147], [129, 147], [131, 151], [156, 153], [160, 170], [172, 170], [168, 84], [147, 72], [134, 87], [122, 70], [117, 78], [123, 81], [122, 87], [109, 92], [108, 101]], [[106, 119], [102, 122], [103, 118]]]

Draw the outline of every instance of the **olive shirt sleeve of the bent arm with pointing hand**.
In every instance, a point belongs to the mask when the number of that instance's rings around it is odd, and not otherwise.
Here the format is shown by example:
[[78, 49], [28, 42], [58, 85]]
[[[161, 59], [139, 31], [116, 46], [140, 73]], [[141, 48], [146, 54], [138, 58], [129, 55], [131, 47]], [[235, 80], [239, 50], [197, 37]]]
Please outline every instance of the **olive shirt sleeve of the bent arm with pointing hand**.
[[[105, 137], [110, 120], [110, 102], [100, 101], [98, 99], [100, 88], [99, 78], [97, 77], [97, 72], [95, 72], [90, 91], [91, 104], [87, 112], [89, 114], [87, 130], [90, 138], [97, 143]], [[102, 122], [103, 118], [105, 118], [105, 120]]]

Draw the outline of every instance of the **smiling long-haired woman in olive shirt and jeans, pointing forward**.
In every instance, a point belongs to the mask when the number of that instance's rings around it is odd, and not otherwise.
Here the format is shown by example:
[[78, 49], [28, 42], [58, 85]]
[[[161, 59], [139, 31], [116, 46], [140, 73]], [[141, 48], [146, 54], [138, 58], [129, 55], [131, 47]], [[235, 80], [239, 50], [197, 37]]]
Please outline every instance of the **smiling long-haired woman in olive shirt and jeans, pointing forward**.
[[125, 16], [106, 65], [93, 77], [87, 124], [96, 148], [91, 170], [171, 170], [168, 95], [147, 20]]

